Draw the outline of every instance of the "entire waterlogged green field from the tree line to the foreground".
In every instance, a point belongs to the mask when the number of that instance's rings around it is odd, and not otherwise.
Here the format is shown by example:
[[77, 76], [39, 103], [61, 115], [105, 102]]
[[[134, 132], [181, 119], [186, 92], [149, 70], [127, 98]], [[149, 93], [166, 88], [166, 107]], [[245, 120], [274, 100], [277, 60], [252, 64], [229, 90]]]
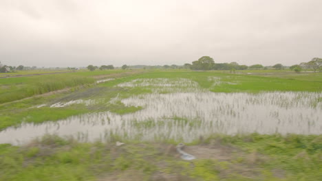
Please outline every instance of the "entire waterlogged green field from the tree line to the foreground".
[[[97, 84], [97, 80], [107, 81]], [[3, 78], [0, 95], [0, 130], [10, 128], [14, 132], [13, 127], [19, 128], [21, 123], [30, 129], [32, 123], [67, 128], [74, 119], [79, 119], [80, 125], [92, 124], [93, 129], [100, 129], [104, 121], [117, 128], [105, 130], [100, 141], [78, 133], [67, 137], [45, 135], [20, 145], [4, 142], [0, 144], [0, 180], [322, 178], [322, 73], [76, 71]], [[241, 132], [239, 127], [248, 130], [247, 125], [252, 123], [247, 118], [261, 116], [247, 112], [256, 108], [258, 112], [271, 111], [267, 117], [272, 120], [283, 122], [288, 114], [291, 118], [276, 126], [281, 129], [275, 132], [264, 129], [269, 127], [264, 117], [254, 125], [258, 132]], [[236, 125], [238, 122], [227, 124], [222, 120], [245, 122]], [[98, 122], [102, 126], [96, 125]], [[285, 134], [288, 124], [303, 124], [310, 130]], [[217, 132], [217, 127], [227, 132]], [[178, 132], [188, 133], [180, 137]], [[116, 146], [116, 141], [125, 145]], [[181, 142], [197, 159], [180, 158], [175, 145]]]

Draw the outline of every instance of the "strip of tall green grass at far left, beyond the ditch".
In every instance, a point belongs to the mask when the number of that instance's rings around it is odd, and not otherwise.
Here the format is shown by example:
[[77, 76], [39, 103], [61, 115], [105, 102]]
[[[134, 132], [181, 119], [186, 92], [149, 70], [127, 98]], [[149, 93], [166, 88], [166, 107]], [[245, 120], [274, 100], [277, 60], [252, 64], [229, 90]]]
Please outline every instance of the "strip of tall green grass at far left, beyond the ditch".
[[84, 84], [93, 84], [97, 75], [122, 76], [129, 71], [78, 71], [52, 75], [34, 75], [30, 77], [10, 77], [0, 79], [0, 104], [16, 101], [33, 95], [61, 90]]

